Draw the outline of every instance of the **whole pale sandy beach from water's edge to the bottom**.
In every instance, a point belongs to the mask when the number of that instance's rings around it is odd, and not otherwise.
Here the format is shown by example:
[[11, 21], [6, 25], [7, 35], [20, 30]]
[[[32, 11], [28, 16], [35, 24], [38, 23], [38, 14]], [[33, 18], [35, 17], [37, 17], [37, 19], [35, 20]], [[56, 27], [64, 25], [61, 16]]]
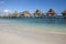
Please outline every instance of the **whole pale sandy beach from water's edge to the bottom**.
[[66, 44], [66, 33], [30, 30], [0, 22], [0, 44]]

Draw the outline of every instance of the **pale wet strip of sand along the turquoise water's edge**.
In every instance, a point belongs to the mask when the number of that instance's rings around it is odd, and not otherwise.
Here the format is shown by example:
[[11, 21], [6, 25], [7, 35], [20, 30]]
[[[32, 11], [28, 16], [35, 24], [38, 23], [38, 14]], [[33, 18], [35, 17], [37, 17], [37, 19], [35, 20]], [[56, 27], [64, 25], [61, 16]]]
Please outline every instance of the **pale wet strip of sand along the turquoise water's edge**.
[[14, 30], [16, 31], [25, 31], [25, 32], [33, 32], [33, 33], [41, 33], [41, 34], [44, 34], [44, 33], [51, 33], [51, 34], [66, 34], [66, 32], [64, 31], [61, 31], [61, 30], [40, 30], [37, 28], [29, 28], [29, 26], [21, 26], [21, 25], [16, 25], [16, 24], [10, 24], [10, 23], [1, 23], [0, 24], [2, 25], [8, 25], [10, 28], [13, 28]]

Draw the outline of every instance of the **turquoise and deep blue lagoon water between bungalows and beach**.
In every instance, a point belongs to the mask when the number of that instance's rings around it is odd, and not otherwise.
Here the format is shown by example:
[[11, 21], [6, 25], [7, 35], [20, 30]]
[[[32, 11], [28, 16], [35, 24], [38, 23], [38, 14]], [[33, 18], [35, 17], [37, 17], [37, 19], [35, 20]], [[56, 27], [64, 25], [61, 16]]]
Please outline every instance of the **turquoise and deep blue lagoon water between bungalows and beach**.
[[0, 22], [7, 22], [21, 26], [38, 28], [41, 30], [59, 30], [66, 32], [66, 19], [18, 18], [0, 19]]

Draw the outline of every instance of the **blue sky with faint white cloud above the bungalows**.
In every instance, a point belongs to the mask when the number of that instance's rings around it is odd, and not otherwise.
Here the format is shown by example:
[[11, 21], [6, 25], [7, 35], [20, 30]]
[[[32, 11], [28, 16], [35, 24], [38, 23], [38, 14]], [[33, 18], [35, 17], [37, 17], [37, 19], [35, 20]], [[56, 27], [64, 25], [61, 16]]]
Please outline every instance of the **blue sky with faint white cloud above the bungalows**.
[[44, 13], [48, 9], [55, 10], [57, 13], [66, 10], [66, 0], [0, 0], [0, 12], [1, 11], [30, 11], [34, 12], [36, 9]]

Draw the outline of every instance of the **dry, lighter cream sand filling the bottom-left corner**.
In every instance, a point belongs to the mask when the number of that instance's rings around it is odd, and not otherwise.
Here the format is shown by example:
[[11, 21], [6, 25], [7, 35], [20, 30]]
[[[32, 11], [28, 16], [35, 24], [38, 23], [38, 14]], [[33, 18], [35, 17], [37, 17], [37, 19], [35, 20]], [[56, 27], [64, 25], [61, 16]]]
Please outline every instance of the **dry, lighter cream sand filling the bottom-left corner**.
[[43, 44], [44, 42], [30, 40], [12, 33], [0, 31], [0, 44]]

